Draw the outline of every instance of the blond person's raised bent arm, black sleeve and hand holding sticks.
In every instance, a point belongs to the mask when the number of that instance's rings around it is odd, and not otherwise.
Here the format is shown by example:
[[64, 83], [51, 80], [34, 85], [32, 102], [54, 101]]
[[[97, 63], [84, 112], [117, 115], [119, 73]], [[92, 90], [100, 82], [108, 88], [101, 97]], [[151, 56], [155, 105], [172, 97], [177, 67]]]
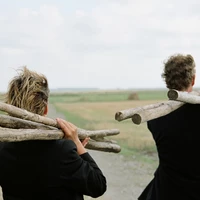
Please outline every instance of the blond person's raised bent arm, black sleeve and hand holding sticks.
[[75, 125], [62, 119], [57, 119], [57, 122], [67, 139], [63, 140], [61, 155], [63, 184], [85, 195], [101, 196], [107, 188], [106, 178], [84, 148], [89, 138], [81, 143]]

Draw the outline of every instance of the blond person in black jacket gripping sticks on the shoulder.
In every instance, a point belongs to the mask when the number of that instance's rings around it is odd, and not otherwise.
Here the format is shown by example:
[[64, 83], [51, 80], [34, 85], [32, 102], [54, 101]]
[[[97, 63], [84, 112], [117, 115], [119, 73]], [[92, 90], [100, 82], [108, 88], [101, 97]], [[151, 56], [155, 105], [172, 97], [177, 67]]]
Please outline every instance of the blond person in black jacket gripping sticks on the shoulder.
[[[24, 67], [8, 88], [6, 103], [45, 116], [47, 78]], [[64, 133], [59, 140], [0, 142], [0, 186], [4, 200], [70, 199], [102, 196], [106, 177], [86, 151], [77, 127], [56, 119]]]

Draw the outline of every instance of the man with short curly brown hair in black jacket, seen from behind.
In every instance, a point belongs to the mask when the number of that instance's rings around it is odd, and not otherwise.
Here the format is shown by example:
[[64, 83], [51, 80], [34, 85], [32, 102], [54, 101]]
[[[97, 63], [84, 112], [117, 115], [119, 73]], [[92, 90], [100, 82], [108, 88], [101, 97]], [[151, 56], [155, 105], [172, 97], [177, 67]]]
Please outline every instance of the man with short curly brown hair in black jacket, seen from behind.
[[[162, 73], [166, 87], [192, 92], [195, 68], [191, 55], [170, 56]], [[159, 165], [138, 200], [200, 199], [199, 113], [200, 104], [186, 103], [147, 122], [157, 147]]]

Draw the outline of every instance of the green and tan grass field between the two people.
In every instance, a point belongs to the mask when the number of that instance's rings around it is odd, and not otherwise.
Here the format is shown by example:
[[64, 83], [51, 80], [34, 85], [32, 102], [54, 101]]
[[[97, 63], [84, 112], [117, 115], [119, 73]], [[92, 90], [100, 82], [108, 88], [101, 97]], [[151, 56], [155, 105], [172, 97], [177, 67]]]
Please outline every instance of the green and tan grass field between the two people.
[[137, 91], [139, 100], [128, 100], [132, 91], [98, 91], [87, 93], [51, 94], [52, 103], [66, 119], [79, 128], [88, 130], [113, 129], [120, 134], [112, 139], [122, 147], [123, 155], [153, 154], [155, 144], [146, 123], [133, 124], [130, 119], [118, 122], [115, 113], [120, 110], [149, 105], [166, 100], [165, 90]]

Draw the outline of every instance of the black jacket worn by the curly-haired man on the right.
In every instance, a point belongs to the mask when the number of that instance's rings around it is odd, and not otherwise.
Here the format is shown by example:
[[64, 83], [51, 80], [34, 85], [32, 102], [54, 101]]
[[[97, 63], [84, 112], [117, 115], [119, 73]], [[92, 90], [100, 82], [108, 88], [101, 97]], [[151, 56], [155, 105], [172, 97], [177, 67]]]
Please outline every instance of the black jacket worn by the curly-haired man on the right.
[[159, 166], [139, 200], [200, 199], [200, 104], [148, 121]]

